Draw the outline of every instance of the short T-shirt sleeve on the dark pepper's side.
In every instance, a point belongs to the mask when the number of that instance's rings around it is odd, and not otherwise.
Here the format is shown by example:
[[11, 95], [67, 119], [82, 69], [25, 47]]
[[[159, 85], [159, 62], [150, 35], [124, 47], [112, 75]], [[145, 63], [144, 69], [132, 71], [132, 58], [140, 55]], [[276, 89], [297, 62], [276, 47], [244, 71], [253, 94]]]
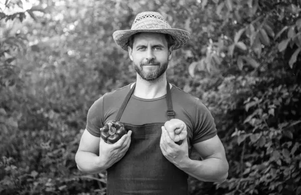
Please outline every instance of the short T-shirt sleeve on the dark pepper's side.
[[97, 137], [100, 137], [100, 128], [103, 127], [103, 98], [104, 96], [94, 101], [87, 114], [86, 129]]

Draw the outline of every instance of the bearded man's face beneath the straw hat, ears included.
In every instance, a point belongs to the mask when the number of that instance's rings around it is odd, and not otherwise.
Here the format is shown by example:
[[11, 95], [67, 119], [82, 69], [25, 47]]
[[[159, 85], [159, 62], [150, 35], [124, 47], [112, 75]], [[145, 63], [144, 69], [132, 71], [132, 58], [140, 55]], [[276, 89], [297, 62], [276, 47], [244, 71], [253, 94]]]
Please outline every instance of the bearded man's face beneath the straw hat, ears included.
[[144, 80], [155, 80], [167, 69], [172, 57], [164, 34], [142, 32], [135, 36], [133, 47], [128, 47], [136, 72]]

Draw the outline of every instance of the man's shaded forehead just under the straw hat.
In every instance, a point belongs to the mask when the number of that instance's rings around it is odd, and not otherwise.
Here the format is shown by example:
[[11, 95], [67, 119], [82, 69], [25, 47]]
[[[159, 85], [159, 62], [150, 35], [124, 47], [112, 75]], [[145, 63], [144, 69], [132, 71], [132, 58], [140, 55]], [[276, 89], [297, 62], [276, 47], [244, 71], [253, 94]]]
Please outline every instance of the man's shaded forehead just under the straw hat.
[[165, 34], [157, 33], [157, 32], [141, 32], [135, 35], [134, 44], [142, 43], [142, 42], [154, 42], [154, 43], [167, 44]]

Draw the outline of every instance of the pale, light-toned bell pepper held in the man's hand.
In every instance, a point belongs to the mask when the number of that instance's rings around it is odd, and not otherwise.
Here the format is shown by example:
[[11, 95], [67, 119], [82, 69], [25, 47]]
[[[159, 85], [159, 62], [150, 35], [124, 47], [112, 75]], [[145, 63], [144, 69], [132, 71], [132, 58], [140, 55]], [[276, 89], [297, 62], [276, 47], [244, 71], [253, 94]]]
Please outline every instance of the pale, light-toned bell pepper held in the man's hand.
[[[172, 118], [165, 122], [164, 127], [168, 131], [171, 139], [181, 145], [183, 139], [187, 136], [187, 126], [185, 122], [177, 118]], [[177, 133], [176, 130], [180, 132]]]

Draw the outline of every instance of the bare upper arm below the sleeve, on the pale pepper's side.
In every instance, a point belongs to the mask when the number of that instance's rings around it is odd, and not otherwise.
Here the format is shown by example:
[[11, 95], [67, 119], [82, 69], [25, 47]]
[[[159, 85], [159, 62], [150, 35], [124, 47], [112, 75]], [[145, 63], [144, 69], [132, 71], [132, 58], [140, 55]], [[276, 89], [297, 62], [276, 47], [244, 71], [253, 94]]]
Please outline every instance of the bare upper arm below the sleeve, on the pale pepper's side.
[[225, 148], [218, 135], [207, 140], [197, 142], [193, 146], [198, 151], [202, 159], [214, 157], [226, 160]]

